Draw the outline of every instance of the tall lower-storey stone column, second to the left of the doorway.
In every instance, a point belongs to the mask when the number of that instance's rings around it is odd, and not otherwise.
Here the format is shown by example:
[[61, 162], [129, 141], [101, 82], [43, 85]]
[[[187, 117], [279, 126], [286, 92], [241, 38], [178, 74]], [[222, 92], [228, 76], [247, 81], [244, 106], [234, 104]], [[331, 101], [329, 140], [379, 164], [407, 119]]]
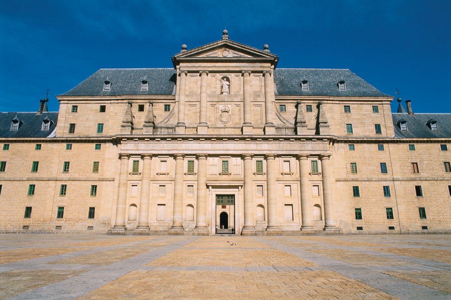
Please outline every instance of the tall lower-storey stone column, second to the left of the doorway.
[[174, 212], [172, 215], [173, 230], [183, 230], [183, 154], [175, 154]]

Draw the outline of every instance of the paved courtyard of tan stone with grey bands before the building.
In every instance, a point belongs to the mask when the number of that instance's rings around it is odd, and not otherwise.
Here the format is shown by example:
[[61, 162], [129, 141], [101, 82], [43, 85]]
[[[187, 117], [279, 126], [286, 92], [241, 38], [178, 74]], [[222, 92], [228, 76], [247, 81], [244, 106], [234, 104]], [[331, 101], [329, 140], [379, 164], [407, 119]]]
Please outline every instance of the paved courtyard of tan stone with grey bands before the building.
[[451, 299], [451, 235], [0, 235], [0, 298]]

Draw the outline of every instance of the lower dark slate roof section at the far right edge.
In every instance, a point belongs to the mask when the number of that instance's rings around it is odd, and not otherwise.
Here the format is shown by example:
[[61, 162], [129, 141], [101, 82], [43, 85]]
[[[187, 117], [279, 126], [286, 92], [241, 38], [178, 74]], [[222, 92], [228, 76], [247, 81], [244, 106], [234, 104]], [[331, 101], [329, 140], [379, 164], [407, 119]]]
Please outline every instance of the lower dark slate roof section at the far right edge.
[[[392, 113], [395, 137], [447, 137], [451, 138], [451, 113]], [[404, 119], [407, 130], [401, 130], [398, 121]], [[427, 121], [437, 121], [438, 130], [431, 130]]]

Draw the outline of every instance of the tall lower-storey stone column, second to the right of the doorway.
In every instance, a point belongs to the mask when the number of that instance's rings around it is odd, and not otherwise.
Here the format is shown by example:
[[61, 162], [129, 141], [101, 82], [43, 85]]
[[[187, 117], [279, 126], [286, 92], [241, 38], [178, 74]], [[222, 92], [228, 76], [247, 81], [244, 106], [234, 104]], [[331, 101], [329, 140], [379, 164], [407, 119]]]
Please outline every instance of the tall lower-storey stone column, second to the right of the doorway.
[[279, 230], [277, 222], [276, 194], [276, 155], [266, 155], [266, 184], [268, 195], [268, 227], [266, 230]]

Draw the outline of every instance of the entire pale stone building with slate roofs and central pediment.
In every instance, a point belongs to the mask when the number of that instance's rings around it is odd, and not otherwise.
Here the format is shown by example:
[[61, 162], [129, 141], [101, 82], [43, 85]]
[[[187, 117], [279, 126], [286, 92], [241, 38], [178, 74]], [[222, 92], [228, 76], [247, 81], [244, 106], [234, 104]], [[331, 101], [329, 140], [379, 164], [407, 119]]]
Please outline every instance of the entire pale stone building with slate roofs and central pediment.
[[58, 113], [0, 113], [0, 230], [451, 231], [451, 114], [278, 59], [224, 30], [170, 69], [98, 70]]

